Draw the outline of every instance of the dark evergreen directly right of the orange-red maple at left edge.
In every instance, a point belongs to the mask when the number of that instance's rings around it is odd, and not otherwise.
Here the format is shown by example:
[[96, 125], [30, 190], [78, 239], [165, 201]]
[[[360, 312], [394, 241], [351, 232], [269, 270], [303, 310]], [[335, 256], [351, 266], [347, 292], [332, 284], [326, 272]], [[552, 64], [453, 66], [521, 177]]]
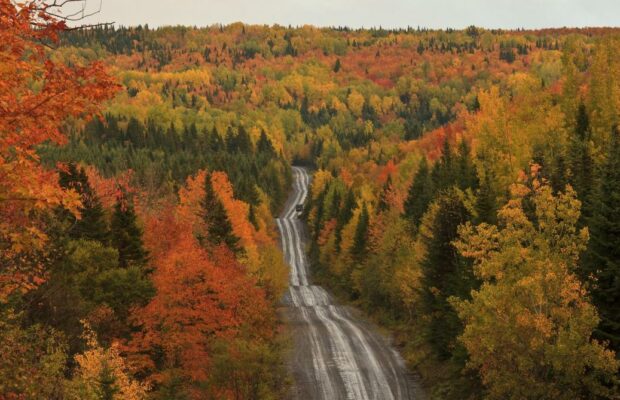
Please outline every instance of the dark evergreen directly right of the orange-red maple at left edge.
[[[68, 232], [69, 237], [107, 243], [109, 231], [103, 205], [90, 186], [84, 169], [70, 163], [67, 171], [59, 172], [59, 183], [65, 189], [75, 190], [82, 200], [82, 206], [79, 208], [81, 218], [72, 221]], [[65, 217], [69, 215], [64, 212], [63, 214]]]

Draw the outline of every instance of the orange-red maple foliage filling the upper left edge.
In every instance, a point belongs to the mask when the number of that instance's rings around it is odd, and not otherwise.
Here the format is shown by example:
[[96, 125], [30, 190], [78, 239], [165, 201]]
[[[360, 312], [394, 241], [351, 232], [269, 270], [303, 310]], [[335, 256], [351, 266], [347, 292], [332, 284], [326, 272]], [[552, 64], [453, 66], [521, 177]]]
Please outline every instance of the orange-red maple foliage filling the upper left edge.
[[101, 62], [67, 66], [48, 57], [44, 43], [65, 28], [48, 9], [0, 0], [0, 300], [40, 282], [40, 270], [14, 261], [45, 245], [40, 216], [59, 206], [78, 214], [77, 193], [41, 166], [36, 147], [64, 143], [63, 122], [96, 113], [118, 88]]

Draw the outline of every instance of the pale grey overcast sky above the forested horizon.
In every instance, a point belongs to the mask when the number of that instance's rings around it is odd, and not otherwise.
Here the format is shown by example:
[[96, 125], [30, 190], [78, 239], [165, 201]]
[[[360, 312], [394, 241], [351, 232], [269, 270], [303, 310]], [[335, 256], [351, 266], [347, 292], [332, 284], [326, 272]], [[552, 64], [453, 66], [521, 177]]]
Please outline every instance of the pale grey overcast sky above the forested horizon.
[[[87, 0], [89, 8], [99, 0]], [[350, 27], [619, 26], [620, 0], [101, 0], [87, 22], [197, 25], [241, 21]]]

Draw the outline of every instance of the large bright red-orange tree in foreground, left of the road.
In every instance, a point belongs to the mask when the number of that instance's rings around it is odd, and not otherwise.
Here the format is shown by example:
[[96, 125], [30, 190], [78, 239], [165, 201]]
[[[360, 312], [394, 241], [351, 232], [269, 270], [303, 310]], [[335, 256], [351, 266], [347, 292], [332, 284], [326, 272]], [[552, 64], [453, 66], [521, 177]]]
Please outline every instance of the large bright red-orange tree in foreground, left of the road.
[[[153, 254], [157, 291], [133, 314], [139, 329], [127, 350], [146, 381], [162, 389], [160, 395], [227, 398], [223, 393], [233, 388], [211, 380], [216, 343], [269, 340], [275, 315], [263, 290], [230, 251], [200, 246], [193, 218], [199, 217], [172, 205], [147, 221], [145, 239]], [[251, 362], [267, 368], [260, 359]]]

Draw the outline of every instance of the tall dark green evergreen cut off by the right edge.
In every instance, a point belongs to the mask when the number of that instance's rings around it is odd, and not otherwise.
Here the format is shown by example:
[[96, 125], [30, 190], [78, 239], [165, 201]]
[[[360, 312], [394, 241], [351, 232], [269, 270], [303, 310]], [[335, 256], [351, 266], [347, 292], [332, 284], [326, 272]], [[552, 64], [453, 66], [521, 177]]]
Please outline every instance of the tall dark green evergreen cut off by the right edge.
[[620, 350], [620, 132], [616, 127], [590, 222], [590, 241], [582, 277], [601, 321], [597, 334]]

